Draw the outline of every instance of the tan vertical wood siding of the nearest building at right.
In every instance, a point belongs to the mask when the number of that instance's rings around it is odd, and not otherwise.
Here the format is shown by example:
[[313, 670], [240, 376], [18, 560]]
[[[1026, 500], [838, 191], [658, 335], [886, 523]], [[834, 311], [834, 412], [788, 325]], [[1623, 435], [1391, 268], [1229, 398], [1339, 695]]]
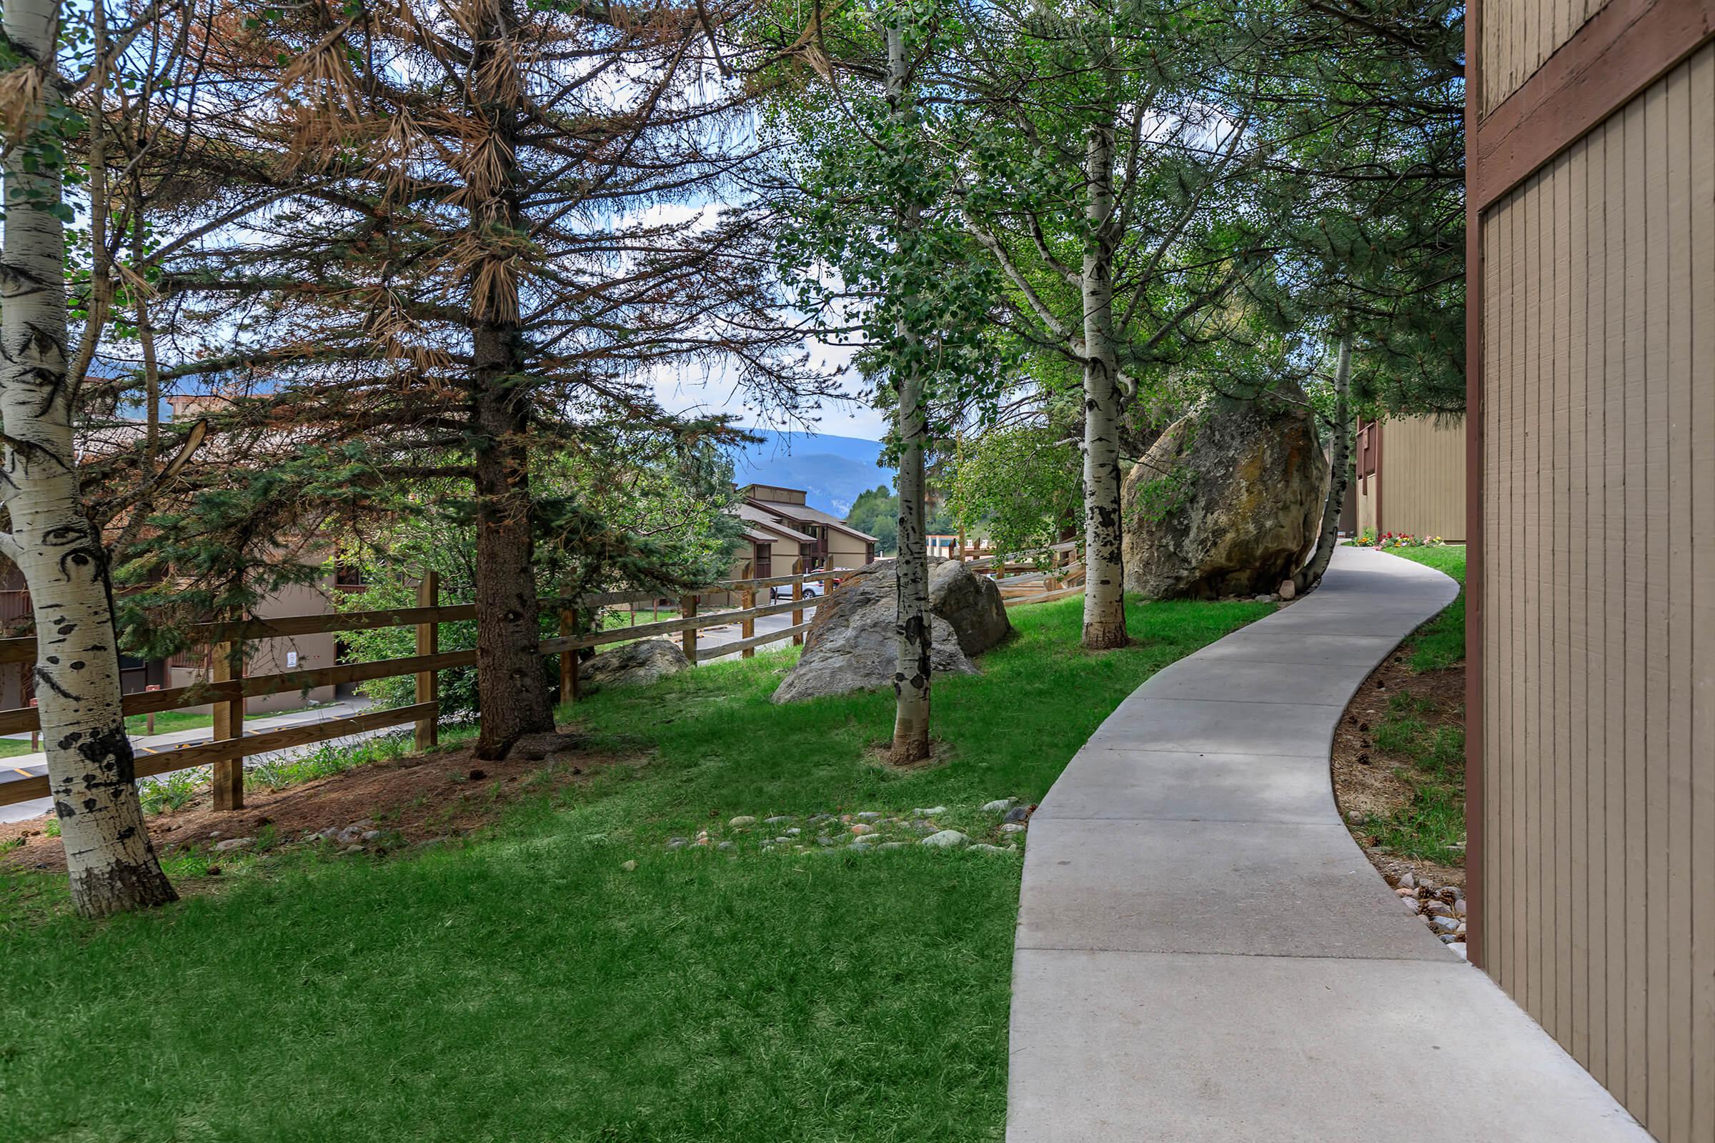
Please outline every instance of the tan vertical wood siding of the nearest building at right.
[[1715, 45], [1482, 243], [1487, 968], [1653, 1134], [1708, 1143]]

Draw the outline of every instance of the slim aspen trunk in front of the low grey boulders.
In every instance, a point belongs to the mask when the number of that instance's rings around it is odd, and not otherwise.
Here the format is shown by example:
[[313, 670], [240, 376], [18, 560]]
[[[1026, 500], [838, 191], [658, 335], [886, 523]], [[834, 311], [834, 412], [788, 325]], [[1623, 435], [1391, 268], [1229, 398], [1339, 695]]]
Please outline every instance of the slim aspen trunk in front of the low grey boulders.
[[[909, 117], [909, 93], [906, 91], [906, 38], [902, 29], [887, 29], [887, 98], [899, 118]], [[907, 206], [900, 216], [900, 226], [912, 230], [919, 224], [916, 207]], [[909, 329], [900, 326], [900, 336], [914, 343]], [[894, 749], [890, 761], [895, 766], [918, 763], [930, 756], [930, 651], [933, 629], [930, 625], [930, 555], [928, 536], [924, 533], [923, 511], [923, 437], [928, 432], [924, 416], [923, 375], [916, 368], [916, 356], [907, 355], [912, 363], [897, 377], [899, 387], [899, 437], [902, 442], [899, 458], [899, 560], [895, 566], [895, 584], [899, 591], [894, 612], [894, 643], [899, 663], [894, 668]]]

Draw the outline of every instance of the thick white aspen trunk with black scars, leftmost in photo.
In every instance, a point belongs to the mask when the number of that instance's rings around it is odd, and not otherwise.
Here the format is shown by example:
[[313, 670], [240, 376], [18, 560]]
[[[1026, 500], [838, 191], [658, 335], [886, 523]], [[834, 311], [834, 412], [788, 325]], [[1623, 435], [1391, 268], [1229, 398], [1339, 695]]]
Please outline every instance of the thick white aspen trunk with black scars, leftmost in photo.
[[60, 819], [72, 903], [86, 917], [175, 900], [149, 845], [135, 759], [120, 704], [113, 589], [101, 536], [84, 514], [67, 389], [65, 228], [60, 168], [46, 154], [48, 103], [58, 99], [57, 0], [7, 0], [5, 34], [46, 72], [43, 106], [12, 123], [0, 250], [0, 422], [7, 447], [0, 540], [29, 586], [36, 620], [36, 697], [48, 792]]

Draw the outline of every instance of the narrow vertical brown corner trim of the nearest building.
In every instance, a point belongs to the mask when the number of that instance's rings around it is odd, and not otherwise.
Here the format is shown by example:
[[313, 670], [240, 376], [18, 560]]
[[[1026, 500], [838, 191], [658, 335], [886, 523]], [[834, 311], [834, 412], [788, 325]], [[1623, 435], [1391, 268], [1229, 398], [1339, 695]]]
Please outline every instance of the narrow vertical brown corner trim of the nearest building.
[[[1482, 0], [1465, 9], [1465, 137], [1478, 139]], [[1482, 159], [1466, 159], [1475, 185]], [[1483, 231], [1477, 194], [1465, 199], [1465, 954], [1485, 966], [1483, 948]]]

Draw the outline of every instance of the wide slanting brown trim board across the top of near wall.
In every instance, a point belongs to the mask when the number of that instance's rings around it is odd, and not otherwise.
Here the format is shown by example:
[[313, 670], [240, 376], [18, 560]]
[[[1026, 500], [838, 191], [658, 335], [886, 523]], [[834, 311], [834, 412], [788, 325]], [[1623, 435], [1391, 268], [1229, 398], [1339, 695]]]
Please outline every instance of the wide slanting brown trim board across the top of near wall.
[[[1480, 99], [1466, 12], [1465, 101]], [[1715, 36], [1715, 0], [1609, 0], [1487, 117], [1466, 113], [1468, 199], [1480, 214]], [[1477, 214], [1473, 214], [1475, 218]]]

